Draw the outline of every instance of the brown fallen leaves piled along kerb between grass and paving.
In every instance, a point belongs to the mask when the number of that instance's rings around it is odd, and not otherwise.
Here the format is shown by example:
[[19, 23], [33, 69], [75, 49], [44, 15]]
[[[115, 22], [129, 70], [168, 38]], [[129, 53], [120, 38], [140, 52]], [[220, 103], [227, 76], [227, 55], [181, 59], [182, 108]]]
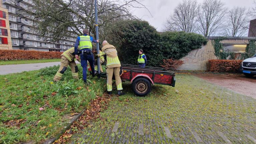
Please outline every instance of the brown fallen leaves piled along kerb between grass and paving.
[[[87, 88], [88, 90], [88, 88]], [[89, 109], [87, 109], [77, 121], [75, 121], [69, 130], [66, 130], [65, 133], [60, 136], [58, 140], [55, 140], [53, 144], [62, 144], [65, 143], [71, 138], [72, 134], [77, 133], [77, 131], [72, 131], [73, 128], [78, 129], [78, 131], [89, 127], [89, 121], [99, 117], [100, 111], [106, 109], [108, 102], [110, 101], [109, 95], [104, 94], [102, 97], [96, 96], [94, 100], [90, 102]], [[70, 116], [77, 115], [78, 113], [71, 113]]]

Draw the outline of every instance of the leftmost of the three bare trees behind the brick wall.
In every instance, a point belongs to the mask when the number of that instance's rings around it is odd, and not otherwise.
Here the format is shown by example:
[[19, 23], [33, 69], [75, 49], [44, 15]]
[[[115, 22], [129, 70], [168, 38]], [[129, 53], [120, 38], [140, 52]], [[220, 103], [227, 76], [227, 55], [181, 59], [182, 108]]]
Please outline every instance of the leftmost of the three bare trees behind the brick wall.
[[198, 4], [196, 0], [183, 0], [167, 20], [168, 31], [195, 32]]

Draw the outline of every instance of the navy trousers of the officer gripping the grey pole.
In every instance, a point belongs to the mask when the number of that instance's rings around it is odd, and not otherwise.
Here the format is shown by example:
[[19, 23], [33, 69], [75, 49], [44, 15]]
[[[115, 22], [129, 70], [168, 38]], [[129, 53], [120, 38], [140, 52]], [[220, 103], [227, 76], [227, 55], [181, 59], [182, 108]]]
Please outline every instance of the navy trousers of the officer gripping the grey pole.
[[[83, 49], [84, 51], [90, 51], [90, 49]], [[82, 50], [80, 50], [82, 51]], [[91, 72], [94, 75], [94, 56], [93, 54], [80, 54], [81, 66], [83, 68], [83, 81], [87, 81], [87, 60], [91, 66]]]

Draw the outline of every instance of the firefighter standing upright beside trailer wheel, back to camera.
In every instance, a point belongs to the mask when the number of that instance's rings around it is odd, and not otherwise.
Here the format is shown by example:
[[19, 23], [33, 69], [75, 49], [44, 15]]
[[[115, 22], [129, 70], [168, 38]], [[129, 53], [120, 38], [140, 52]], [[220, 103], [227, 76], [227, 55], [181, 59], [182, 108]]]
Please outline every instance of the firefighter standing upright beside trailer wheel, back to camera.
[[121, 64], [117, 56], [117, 51], [115, 47], [107, 43], [107, 41], [103, 41], [102, 46], [102, 53], [97, 54], [97, 56], [101, 57], [104, 54], [106, 55], [107, 93], [112, 94], [112, 77], [114, 75], [117, 94], [124, 95], [122, 92], [122, 81], [119, 75]]

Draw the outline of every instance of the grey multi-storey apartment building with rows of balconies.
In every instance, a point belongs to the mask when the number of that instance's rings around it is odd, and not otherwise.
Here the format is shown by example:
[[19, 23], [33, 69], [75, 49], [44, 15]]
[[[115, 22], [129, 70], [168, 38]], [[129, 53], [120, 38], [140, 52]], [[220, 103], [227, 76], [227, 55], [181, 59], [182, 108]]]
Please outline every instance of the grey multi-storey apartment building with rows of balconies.
[[[2, 0], [2, 7], [9, 12], [9, 26], [12, 49], [58, 51], [62, 52], [74, 46], [76, 37], [69, 37], [58, 42], [44, 41], [32, 31], [32, 17], [22, 15], [22, 9], [33, 5], [33, 0]], [[46, 37], [47, 38], [47, 37]], [[47, 38], [50, 39], [50, 38]]]

